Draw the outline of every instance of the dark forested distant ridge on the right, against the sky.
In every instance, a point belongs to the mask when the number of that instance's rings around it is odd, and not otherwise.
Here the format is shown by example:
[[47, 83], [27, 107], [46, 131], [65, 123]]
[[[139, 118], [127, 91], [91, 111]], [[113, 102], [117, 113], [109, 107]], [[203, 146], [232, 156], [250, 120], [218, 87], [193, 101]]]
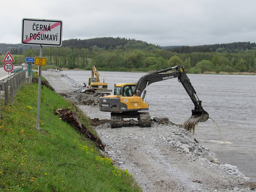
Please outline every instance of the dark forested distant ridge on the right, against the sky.
[[166, 49], [177, 53], [191, 52], [239, 52], [241, 50], [255, 49], [256, 44], [250, 42], [234, 42], [223, 44], [197, 45], [197, 46], [176, 46]]

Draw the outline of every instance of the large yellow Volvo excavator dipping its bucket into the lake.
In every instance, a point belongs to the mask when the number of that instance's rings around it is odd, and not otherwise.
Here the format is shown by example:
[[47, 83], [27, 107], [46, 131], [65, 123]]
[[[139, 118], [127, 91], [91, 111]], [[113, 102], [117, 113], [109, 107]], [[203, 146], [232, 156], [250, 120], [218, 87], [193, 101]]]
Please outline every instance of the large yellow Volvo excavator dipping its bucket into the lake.
[[[176, 68], [171, 73], [163, 73]], [[149, 84], [178, 77], [178, 81], [187, 91], [195, 105], [192, 109], [192, 118], [197, 117], [198, 122], [206, 121], [209, 115], [201, 106], [202, 101], [196, 95], [196, 91], [182, 66], [175, 66], [163, 70], [153, 70], [142, 76], [137, 83], [115, 84], [114, 95], [100, 98], [100, 111], [111, 112], [111, 128], [120, 127], [122, 118], [137, 118], [140, 127], [150, 127], [151, 118], [148, 112], [148, 103], [144, 102]], [[144, 90], [144, 92], [143, 92]], [[143, 96], [141, 97], [141, 93]], [[199, 118], [200, 117], [200, 118]]]

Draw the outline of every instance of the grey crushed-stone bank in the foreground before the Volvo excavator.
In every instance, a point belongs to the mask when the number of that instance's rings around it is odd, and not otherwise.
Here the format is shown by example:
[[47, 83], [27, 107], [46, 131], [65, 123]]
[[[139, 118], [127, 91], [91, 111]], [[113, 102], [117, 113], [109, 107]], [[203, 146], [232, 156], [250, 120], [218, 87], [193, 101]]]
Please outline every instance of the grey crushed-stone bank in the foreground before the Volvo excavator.
[[118, 129], [103, 124], [95, 129], [107, 144], [106, 155], [128, 169], [143, 191], [159, 191], [161, 185], [177, 185], [185, 191], [249, 191], [241, 186], [249, 178], [236, 166], [218, 165], [208, 148], [171, 122]]

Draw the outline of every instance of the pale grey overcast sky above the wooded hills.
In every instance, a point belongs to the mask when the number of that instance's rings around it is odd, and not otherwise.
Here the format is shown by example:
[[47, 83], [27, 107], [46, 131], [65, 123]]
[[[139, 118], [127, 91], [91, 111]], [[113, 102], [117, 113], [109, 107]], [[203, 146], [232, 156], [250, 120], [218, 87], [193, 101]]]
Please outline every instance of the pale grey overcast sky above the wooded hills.
[[63, 40], [126, 37], [161, 46], [256, 42], [255, 0], [1, 0], [0, 43], [22, 18], [63, 21]]

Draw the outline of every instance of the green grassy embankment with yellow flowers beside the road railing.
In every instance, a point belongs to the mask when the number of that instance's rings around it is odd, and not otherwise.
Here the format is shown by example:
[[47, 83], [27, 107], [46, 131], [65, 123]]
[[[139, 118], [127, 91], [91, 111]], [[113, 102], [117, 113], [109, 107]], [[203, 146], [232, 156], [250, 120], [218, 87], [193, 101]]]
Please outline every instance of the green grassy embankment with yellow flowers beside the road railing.
[[[35, 129], [37, 87], [25, 84], [13, 104], [1, 103], [0, 191], [140, 191], [127, 170], [102, 158], [91, 141], [79, 139], [83, 136], [53, 114], [71, 106], [46, 87], [41, 92], [42, 131]], [[90, 126], [86, 116], [78, 116]]]

